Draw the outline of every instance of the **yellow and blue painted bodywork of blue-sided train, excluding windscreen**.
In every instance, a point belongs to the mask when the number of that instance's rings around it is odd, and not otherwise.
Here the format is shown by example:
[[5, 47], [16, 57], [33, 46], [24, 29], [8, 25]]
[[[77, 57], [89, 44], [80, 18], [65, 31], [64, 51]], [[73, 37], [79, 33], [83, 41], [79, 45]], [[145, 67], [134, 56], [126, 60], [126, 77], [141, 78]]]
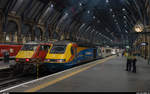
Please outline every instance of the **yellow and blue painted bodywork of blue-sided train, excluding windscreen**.
[[[74, 48], [74, 54], [71, 53], [72, 48]], [[97, 48], [73, 46], [71, 43], [67, 45], [64, 54], [51, 54], [49, 52], [45, 59], [52, 59], [52, 61], [44, 61], [44, 64], [49, 69], [52, 67], [60, 69], [69, 68], [76, 64], [84, 63], [101, 57], [101, 51], [97, 51]], [[65, 59], [65, 62], [60, 63], [56, 61], [61, 59]]]

